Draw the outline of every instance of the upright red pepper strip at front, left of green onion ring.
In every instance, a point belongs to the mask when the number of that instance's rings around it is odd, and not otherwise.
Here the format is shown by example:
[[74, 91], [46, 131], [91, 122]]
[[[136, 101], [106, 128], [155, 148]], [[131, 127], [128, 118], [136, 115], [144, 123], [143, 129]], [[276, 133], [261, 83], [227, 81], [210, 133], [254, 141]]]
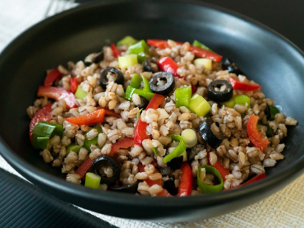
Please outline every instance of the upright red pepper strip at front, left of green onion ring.
[[178, 187], [177, 196], [189, 196], [192, 193], [193, 176], [192, 170], [188, 163], [184, 162], [181, 165], [180, 184]]

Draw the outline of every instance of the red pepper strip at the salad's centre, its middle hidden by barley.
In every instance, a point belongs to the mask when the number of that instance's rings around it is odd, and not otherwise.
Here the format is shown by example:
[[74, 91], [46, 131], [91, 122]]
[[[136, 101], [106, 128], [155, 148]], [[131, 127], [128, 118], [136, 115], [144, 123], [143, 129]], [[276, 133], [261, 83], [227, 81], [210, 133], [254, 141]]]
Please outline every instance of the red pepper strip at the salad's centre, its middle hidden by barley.
[[[150, 102], [148, 103], [148, 106], [146, 107], [146, 110], [149, 108], [157, 109], [165, 100], [165, 97], [160, 94], [154, 94]], [[148, 123], [142, 122], [141, 120], [138, 120], [135, 129], [134, 129], [134, 142], [136, 145], [141, 145], [142, 141], [144, 139], [150, 138], [150, 136], [146, 133], [146, 127], [148, 126]]]

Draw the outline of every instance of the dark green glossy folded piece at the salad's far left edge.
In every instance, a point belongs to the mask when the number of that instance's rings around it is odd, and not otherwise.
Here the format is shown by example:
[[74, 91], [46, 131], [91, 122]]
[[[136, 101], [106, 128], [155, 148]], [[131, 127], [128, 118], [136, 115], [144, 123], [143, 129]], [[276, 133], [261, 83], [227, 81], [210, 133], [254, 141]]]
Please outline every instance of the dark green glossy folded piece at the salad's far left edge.
[[31, 143], [36, 149], [46, 149], [49, 139], [55, 135], [62, 138], [62, 125], [40, 121], [33, 128]]

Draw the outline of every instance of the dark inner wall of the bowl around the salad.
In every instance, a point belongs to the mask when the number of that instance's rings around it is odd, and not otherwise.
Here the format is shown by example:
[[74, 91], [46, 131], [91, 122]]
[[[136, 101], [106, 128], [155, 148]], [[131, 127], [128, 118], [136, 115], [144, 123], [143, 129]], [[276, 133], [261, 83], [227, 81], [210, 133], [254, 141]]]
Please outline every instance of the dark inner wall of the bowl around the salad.
[[263, 26], [204, 5], [108, 1], [49, 18], [19, 36], [0, 57], [0, 134], [14, 155], [39, 169], [37, 175], [61, 176], [60, 169], [43, 162], [28, 137], [26, 108], [33, 104], [45, 70], [84, 59], [125, 35], [183, 42], [196, 39], [232, 58], [285, 115], [299, 122], [288, 128], [285, 159], [267, 169], [267, 175], [277, 177], [303, 162], [304, 61], [296, 48]]

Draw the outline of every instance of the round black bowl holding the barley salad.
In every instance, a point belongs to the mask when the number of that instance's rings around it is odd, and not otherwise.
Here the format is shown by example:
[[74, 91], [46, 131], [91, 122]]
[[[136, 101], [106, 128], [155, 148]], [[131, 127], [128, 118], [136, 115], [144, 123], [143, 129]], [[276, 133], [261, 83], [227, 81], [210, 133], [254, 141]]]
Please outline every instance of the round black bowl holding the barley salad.
[[[45, 164], [28, 137], [26, 108], [35, 99], [45, 69], [83, 59], [125, 35], [139, 39], [200, 40], [231, 57], [298, 120], [288, 129], [285, 159], [267, 178], [245, 187], [193, 197], [145, 197], [97, 191], [66, 182]], [[237, 210], [288, 184], [304, 167], [303, 53], [284, 37], [242, 15], [198, 2], [102, 1], [81, 6], [31, 27], [0, 56], [0, 151], [23, 176], [67, 202], [108, 215], [136, 219], [191, 220]]]

